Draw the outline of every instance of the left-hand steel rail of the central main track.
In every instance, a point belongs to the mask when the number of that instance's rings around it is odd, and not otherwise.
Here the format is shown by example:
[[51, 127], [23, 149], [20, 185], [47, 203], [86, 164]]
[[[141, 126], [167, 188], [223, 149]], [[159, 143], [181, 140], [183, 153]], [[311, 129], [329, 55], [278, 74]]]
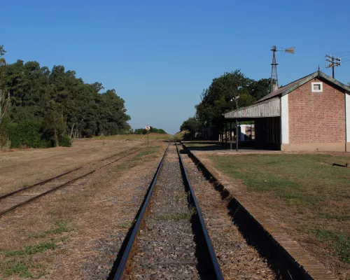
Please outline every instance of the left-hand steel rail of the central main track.
[[137, 218], [137, 222], [135, 223], [134, 229], [132, 230], [132, 235], [130, 236], [130, 239], [127, 242], [127, 246], [126, 246], [125, 251], [123, 253], [123, 258], [120, 260], [120, 264], [118, 266], [117, 272], [113, 278], [115, 280], [123, 279], [123, 275], [125, 273], [125, 268], [127, 265], [127, 260], [129, 260], [132, 257], [132, 254], [131, 254], [132, 248], [134, 247], [134, 244], [137, 241], [137, 236], [139, 235], [140, 225], [144, 221], [144, 219], [146, 218], [148, 203], [151, 200], [151, 196], [152, 196], [153, 190], [155, 188], [155, 183], [157, 182], [158, 176], [160, 174], [160, 169], [162, 169], [162, 166], [163, 166], [163, 163], [165, 160], [165, 155], [167, 154], [168, 148], [169, 148], [169, 145], [167, 147], [167, 150], [165, 150], [165, 153], [162, 157], [162, 160], [160, 161], [160, 164], [158, 165], [157, 172], [155, 172], [155, 176], [153, 177], [151, 186], [148, 190], [148, 194], [147, 194], [146, 200], [144, 202], [144, 206], [142, 207], [141, 212], [139, 214], [139, 217]]

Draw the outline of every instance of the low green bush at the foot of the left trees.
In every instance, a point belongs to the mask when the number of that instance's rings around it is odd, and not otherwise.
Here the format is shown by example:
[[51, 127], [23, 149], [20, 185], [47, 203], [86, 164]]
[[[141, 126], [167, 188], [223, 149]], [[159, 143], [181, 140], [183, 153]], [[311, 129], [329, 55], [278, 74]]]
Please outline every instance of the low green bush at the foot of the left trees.
[[50, 141], [41, 137], [41, 122], [37, 120], [24, 120], [8, 125], [8, 134], [11, 148], [30, 147], [48, 148]]

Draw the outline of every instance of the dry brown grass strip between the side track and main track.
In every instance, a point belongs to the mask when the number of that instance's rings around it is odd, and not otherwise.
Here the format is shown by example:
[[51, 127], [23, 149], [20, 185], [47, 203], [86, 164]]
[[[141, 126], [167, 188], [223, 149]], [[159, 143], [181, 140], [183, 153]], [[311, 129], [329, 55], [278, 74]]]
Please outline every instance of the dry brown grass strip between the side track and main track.
[[148, 188], [141, 178], [155, 172], [165, 146], [151, 150], [1, 217], [0, 279], [86, 279], [81, 268], [99, 256], [96, 241], [132, 223]]

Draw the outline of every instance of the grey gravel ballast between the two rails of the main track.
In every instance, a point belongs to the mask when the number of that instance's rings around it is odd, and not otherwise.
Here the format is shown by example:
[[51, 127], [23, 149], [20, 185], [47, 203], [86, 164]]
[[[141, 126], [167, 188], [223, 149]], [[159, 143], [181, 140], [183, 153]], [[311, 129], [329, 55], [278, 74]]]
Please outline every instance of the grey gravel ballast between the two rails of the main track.
[[187, 195], [176, 147], [171, 145], [125, 279], [204, 279]]

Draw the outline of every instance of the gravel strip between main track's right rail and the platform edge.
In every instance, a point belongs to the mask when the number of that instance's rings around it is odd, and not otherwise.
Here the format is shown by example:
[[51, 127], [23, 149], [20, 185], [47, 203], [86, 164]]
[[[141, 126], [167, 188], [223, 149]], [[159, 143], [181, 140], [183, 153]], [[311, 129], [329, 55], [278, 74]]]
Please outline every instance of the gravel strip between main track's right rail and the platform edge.
[[232, 222], [227, 202], [187, 155], [182, 158], [225, 279], [276, 279], [267, 261], [246, 243]]

